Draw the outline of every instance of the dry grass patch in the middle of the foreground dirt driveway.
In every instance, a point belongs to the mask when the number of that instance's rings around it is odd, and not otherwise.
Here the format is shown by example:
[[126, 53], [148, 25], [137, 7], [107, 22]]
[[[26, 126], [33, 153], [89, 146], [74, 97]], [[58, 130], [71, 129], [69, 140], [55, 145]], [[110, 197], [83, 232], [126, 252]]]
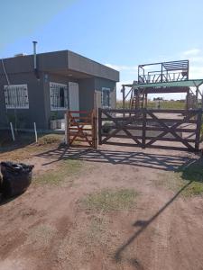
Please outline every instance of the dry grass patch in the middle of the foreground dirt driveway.
[[88, 210], [121, 211], [133, 209], [136, 197], [137, 193], [133, 189], [103, 190], [88, 194], [81, 202]]

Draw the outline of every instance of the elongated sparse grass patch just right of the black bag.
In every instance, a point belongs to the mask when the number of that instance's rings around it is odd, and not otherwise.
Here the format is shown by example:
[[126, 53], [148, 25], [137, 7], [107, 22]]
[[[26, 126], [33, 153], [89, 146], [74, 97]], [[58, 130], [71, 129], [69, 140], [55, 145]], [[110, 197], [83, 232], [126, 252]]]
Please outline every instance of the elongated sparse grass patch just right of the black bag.
[[82, 162], [80, 160], [61, 161], [57, 169], [44, 172], [42, 175], [34, 175], [33, 184], [60, 185], [66, 178], [78, 175], [81, 167]]

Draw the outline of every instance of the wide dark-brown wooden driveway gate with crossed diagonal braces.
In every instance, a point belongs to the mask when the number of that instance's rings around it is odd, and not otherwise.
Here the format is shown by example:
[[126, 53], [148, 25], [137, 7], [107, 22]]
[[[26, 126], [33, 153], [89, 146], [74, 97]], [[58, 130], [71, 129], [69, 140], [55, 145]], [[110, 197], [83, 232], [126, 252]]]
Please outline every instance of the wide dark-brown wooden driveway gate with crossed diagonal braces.
[[98, 143], [198, 150], [201, 117], [202, 110], [98, 109]]

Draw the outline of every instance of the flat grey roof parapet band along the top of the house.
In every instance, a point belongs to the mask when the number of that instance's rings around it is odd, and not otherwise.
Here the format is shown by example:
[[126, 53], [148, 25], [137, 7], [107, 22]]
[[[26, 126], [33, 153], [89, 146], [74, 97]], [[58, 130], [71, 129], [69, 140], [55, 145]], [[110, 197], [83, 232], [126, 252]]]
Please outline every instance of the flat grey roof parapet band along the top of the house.
[[[8, 75], [33, 71], [33, 55], [17, 56], [3, 60]], [[50, 72], [61, 76], [77, 75], [78, 78], [95, 76], [115, 82], [119, 81], [119, 72], [117, 70], [68, 49], [37, 53], [37, 67], [40, 72]], [[0, 63], [0, 75], [4, 74], [4, 67]]]

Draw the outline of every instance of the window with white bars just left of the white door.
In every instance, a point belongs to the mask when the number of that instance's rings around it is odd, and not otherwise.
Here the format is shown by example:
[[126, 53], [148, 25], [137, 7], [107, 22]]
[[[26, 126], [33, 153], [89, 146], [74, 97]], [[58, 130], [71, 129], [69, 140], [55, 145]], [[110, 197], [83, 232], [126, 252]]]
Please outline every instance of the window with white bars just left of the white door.
[[67, 85], [50, 83], [51, 111], [65, 110], [68, 108]]

